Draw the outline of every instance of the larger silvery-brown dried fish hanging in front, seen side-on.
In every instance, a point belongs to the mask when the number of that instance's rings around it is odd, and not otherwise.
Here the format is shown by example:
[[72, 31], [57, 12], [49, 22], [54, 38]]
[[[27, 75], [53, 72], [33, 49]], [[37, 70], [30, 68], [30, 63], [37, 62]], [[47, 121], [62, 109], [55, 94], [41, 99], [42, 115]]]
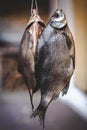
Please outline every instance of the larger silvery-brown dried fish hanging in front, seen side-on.
[[55, 11], [38, 40], [35, 69], [41, 101], [31, 117], [39, 116], [44, 127], [49, 104], [67, 93], [75, 69], [74, 40], [63, 10]]

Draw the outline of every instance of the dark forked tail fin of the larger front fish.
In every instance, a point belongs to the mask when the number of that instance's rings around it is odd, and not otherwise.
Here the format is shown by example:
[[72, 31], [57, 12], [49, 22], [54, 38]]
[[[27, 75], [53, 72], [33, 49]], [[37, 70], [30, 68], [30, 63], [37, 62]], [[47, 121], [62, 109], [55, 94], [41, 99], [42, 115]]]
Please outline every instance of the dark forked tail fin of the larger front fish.
[[36, 110], [33, 112], [33, 114], [30, 116], [31, 118], [35, 118], [36, 116], [39, 117], [40, 123], [43, 126], [43, 129], [45, 128], [45, 114], [46, 114], [47, 107], [40, 104]]

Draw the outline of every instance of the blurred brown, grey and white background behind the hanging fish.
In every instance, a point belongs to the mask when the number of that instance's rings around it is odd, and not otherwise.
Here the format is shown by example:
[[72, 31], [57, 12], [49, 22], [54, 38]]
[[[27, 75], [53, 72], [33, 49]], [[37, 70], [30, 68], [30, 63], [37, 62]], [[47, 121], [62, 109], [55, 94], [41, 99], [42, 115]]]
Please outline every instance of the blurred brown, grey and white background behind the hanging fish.
[[[57, 8], [64, 10], [76, 47], [76, 68], [69, 92], [50, 105], [46, 130], [87, 130], [87, 0], [37, 3], [45, 24]], [[0, 130], [41, 129], [38, 119], [29, 118], [32, 111], [28, 90], [17, 71], [18, 47], [30, 9], [31, 0], [0, 0]], [[35, 94], [35, 107], [39, 99]]]

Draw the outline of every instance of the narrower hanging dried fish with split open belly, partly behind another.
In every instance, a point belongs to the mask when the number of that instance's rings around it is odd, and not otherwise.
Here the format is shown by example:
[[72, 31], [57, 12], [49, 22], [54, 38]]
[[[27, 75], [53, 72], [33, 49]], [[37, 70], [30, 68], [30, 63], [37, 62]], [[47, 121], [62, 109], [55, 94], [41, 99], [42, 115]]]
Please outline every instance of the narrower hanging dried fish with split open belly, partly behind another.
[[32, 96], [35, 86], [35, 51], [37, 40], [44, 27], [45, 24], [38, 14], [38, 9], [32, 9], [18, 52], [18, 71], [23, 75], [24, 82], [29, 90], [32, 110], [34, 109]]

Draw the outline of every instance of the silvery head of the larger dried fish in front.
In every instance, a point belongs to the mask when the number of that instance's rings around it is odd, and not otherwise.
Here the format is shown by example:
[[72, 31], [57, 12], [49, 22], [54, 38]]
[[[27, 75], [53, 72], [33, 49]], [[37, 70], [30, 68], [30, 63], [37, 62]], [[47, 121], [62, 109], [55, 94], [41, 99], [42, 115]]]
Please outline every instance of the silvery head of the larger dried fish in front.
[[66, 24], [67, 20], [64, 11], [57, 9], [50, 19], [50, 25], [54, 28], [61, 29], [65, 27]]

